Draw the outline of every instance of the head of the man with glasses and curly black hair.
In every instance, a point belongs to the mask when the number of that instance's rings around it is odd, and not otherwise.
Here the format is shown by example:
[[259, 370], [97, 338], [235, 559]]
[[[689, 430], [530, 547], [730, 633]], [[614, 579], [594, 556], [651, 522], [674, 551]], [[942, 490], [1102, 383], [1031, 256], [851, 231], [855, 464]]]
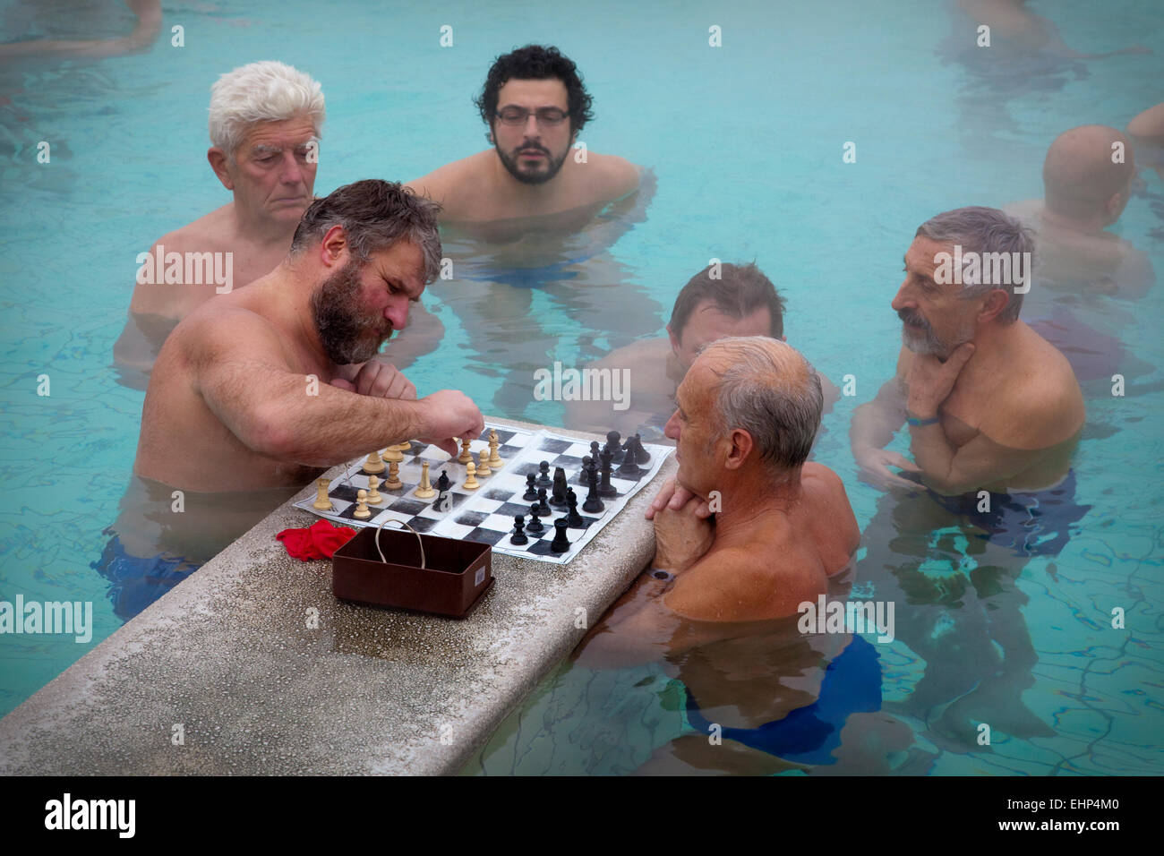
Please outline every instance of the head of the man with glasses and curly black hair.
[[527, 44], [497, 57], [476, 99], [505, 169], [523, 184], [558, 175], [592, 119], [577, 68], [556, 48]]

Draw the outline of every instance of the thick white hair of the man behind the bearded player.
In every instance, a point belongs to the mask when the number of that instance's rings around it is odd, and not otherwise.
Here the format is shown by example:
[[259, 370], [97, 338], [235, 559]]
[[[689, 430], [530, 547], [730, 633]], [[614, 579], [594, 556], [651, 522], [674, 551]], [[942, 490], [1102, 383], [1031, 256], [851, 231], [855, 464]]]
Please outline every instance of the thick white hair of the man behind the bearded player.
[[324, 90], [310, 75], [284, 63], [265, 61], [242, 65], [211, 86], [211, 142], [234, 163], [234, 153], [247, 132], [260, 122], [282, 122], [306, 113], [324, 127]]

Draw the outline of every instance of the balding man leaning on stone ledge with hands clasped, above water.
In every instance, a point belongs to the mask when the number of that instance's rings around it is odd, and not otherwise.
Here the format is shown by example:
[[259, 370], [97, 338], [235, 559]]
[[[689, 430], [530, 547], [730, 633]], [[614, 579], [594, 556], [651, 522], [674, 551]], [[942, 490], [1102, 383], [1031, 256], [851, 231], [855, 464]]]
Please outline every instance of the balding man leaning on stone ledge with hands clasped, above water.
[[643, 587], [654, 596], [619, 629], [650, 632], [656, 613], [705, 622], [796, 615], [825, 594], [860, 540], [840, 479], [808, 461], [819, 379], [782, 341], [732, 337], [704, 348], [676, 404], [667, 436], [679, 473], [647, 510], [654, 567], [630, 599]]

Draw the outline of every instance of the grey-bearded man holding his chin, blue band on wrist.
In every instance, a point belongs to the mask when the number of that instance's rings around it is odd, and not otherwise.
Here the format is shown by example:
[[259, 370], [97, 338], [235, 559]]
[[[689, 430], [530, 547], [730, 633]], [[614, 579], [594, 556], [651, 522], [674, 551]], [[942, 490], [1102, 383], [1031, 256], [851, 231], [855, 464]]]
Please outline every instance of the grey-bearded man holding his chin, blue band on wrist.
[[[1018, 320], [1032, 252], [996, 208], [957, 208], [917, 228], [890, 304], [903, 324], [896, 376], [853, 413], [866, 480], [917, 489], [896, 467], [942, 496], [1064, 480], [1084, 402], [1066, 358]], [[992, 260], [1003, 256], [1009, 275], [999, 276]], [[913, 462], [885, 448], [907, 422]]]

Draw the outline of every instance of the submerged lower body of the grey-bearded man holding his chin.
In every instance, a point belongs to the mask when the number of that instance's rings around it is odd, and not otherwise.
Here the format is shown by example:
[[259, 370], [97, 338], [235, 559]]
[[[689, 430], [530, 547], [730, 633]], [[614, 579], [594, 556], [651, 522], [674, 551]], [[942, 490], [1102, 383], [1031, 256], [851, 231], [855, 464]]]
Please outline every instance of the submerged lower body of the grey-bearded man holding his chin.
[[[1018, 737], [1051, 735], [1022, 703], [1037, 662], [1016, 580], [1032, 557], [1055, 557], [1091, 505], [1074, 473], [1042, 491], [882, 495], [861, 543], [860, 585], [894, 601], [897, 638], [925, 659], [904, 712], [960, 749], [979, 723]], [[982, 510], [979, 510], [979, 509]]]

